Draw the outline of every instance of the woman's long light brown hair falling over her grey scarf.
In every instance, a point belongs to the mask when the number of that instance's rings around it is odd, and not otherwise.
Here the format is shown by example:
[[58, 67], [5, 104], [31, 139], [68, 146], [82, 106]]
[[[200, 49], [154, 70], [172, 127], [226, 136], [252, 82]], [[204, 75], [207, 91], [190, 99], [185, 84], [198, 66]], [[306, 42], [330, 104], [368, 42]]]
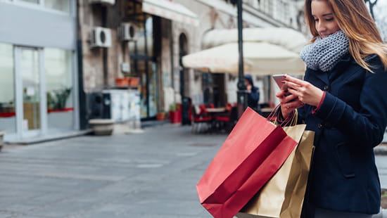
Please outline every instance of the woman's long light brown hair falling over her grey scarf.
[[356, 63], [372, 72], [372, 66], [363, 58], [376, 54], [381, 58], [384, 69], [387, 69], [387, 46], [383, 44], [364, 0], [305, 0], [305, 18], [313, 36], [311, 42], [314, 42], [319, 33], [312, 17], [312, 1], [328, 1], [331, 4], [338, 26], [349, 39], [349, 51]]

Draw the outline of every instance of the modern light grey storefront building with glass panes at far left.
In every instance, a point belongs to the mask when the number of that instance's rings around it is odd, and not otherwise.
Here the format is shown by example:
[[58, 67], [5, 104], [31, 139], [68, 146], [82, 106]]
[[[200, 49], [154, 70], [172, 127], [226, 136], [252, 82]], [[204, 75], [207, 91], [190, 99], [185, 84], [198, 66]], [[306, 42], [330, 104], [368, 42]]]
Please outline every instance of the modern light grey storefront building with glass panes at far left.
[[79, 129], [75, 0], [0, 1], [6, 141]]

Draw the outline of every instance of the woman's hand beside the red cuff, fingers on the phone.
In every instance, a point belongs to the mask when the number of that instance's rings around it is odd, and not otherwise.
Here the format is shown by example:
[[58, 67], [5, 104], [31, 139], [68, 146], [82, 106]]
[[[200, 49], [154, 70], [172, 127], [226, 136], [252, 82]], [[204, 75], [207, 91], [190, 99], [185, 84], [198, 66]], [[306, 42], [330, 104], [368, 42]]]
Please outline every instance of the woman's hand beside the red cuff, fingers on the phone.
[[323, 91], [316, 86], [301, 79], [285, 75], [284, 86], [288, 87], [288, 92], [302, 103], [307, 103], [317, 107], [321, 101]]

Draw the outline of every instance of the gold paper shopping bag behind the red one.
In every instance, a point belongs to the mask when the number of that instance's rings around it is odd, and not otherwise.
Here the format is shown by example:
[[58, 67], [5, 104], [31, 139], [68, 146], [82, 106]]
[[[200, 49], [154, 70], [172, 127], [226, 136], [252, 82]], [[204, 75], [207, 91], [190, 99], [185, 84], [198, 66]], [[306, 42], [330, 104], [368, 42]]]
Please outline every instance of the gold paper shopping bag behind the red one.
[[298, 146], [236, 217], [300, 217], [312, 158], [314, 132], [305, 124], [284, 127]]

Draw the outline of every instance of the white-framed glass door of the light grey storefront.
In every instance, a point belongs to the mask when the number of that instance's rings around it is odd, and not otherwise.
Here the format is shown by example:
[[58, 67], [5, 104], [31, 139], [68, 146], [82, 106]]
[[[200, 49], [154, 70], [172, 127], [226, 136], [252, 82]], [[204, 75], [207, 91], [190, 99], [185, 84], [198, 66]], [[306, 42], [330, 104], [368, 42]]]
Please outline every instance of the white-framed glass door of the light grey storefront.
[[15, 47], [16, 110], [19, 138], [35, 136], [46, 129], [46, 97], [42, 86], [42, 49]]

